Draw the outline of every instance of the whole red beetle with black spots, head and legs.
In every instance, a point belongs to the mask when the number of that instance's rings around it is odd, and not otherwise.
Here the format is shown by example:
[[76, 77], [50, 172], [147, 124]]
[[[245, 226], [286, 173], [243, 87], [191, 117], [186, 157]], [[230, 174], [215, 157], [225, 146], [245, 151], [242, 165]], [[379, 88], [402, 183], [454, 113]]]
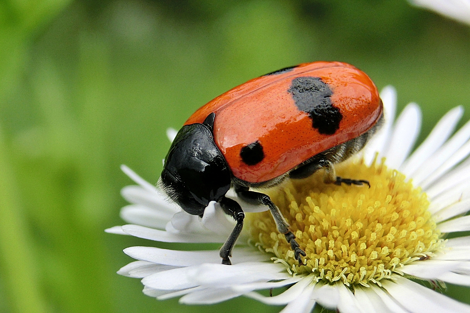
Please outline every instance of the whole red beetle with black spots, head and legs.
[[369, 185], [336, 176], [334, 164], [364, 147], [378, 129], [383, 104], [375, 84], [354, 66], [318, 61], [280, 69], [241, 84], [199, 108], [174, 138], [159, 185], [189, 214], [203, 216], [210, 201], [236, 221], [220, 249], [230, 265], [243, 228], [242, 207], [227, 198], [268, 206], [303, 265], [289, 224], [263, 189], [285, 178], [302, 179], [324, 169], [325, 183]]

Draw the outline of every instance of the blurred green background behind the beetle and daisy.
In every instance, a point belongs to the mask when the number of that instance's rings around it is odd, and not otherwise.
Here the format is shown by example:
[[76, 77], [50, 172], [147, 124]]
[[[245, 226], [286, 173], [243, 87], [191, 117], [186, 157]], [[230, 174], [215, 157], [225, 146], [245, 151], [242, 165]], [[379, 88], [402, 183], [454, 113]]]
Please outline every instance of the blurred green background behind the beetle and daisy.
[[[179, 305], [115, 272], [132, 245], [106, 234], [131, 181], [155, 183], [176, 129], [237, 84], [301, 62], [354, 64], [401, 110], [423, 109], [423, 140], [448, 109], [470, 109], [470, 28], [405, 0], [0, 1], [0, 312], [279, 312], [237, 298]], [[462, 122], [461, 122], [462, 124]], [[449, 285], [470, 303], [470, 290]]]

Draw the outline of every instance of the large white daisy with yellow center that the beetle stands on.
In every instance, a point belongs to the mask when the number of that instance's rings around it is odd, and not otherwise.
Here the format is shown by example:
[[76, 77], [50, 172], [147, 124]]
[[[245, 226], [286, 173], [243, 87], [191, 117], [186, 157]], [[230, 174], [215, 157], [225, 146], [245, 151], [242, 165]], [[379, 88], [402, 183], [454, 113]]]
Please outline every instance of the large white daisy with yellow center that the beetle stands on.
[[[137, 261], [118, 274], [141, 278], [146, 295], [181, 297], [185, 304], [244, 295], [286, 305], [282, 313], [309, 313], [316, 303], [342, 313], [470, 312], [469, 305], [415, 282], [470, 286], [470, 237], [446, 239], [447, 233], [470, 230], [470, 216], [462, 216], [470, 210], [470, 122], [450, 137], [463, 109], [450, 110], [409, 155], [421, 111], [411, 103], [393, 123], [395, 90], [386, 87], [381, 98], [384, 127], [361, 157], [337, 166], [340, 176], [367, 179], [370, 188], [324, 184], [318, 173], [267, 192], [306, 252], [305, 265], [298, 265], [270, 213], [263, 212], [267, 208], [242, 205], [257, 213], [246, 216], [234, 265], [220, 264], [218, 250], [130, 247], [124, 252]], [[139, 184], [122, 190], [132, 205], [121, 217], [132, 224], [107, 232], [223, 243], [233, 229], [217, 203], [211, 202], [202, 218], [187, 214], [132, 170], [122, 169]], [[278, 287], [289, 288], [273, 297], [256, 291]]]

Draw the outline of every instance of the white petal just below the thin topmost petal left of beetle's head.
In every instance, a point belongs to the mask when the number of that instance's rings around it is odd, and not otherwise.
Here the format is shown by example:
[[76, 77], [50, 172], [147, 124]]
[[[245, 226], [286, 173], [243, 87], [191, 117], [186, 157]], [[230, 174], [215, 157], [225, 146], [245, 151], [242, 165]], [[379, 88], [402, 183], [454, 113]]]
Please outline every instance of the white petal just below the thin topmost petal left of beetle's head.
[[175, 214], [181, 211], [178, 206], [168, 203], [163, 195], [148, 191], [141, 186], [125, 186], [121, 189], [121, 196], [130, 203], [147, 206], [167, 214]]

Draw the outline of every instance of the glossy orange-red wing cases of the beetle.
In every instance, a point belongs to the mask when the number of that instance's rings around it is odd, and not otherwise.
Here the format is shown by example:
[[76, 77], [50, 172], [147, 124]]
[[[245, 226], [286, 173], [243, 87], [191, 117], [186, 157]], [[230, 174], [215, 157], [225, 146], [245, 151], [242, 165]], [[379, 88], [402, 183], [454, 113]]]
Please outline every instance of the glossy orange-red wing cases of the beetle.
[[[318, 78], [308, 84], [302, 77]], [[300, 78], [300, 79], [299, 79]], [[315, 128], [310, 115], [319, 105], [296, 105], [290, 91], [297, 79], [302, 96], [321, 82], [330, 90], [324, 110], [337, 109], [336, 131]], [[312, 86], [312, 87], [310, 87]], [[295, 88], [295, 86], [294, 86]], [[313, 92], [310, 92], [313, 93]], [[235, 87], [207, 103], [191, 115], [185, 125], [202, 123], [216, 115], [214, 139], [232, 174], [250, 183], [280, 176], [315, 154], [345, 143], [369, 130], [382, 114], [379, 94], [370, 78], [359, 69], [341, 62], [300, 64], [279, 74], [265, 75]], [[315, 113], [313, 113], [315, 114]], [[334, 124], [336, 116], [325, 116]], [[257, 143], [264, 158], [246, 164], [240, 157], [243, 147]]]

